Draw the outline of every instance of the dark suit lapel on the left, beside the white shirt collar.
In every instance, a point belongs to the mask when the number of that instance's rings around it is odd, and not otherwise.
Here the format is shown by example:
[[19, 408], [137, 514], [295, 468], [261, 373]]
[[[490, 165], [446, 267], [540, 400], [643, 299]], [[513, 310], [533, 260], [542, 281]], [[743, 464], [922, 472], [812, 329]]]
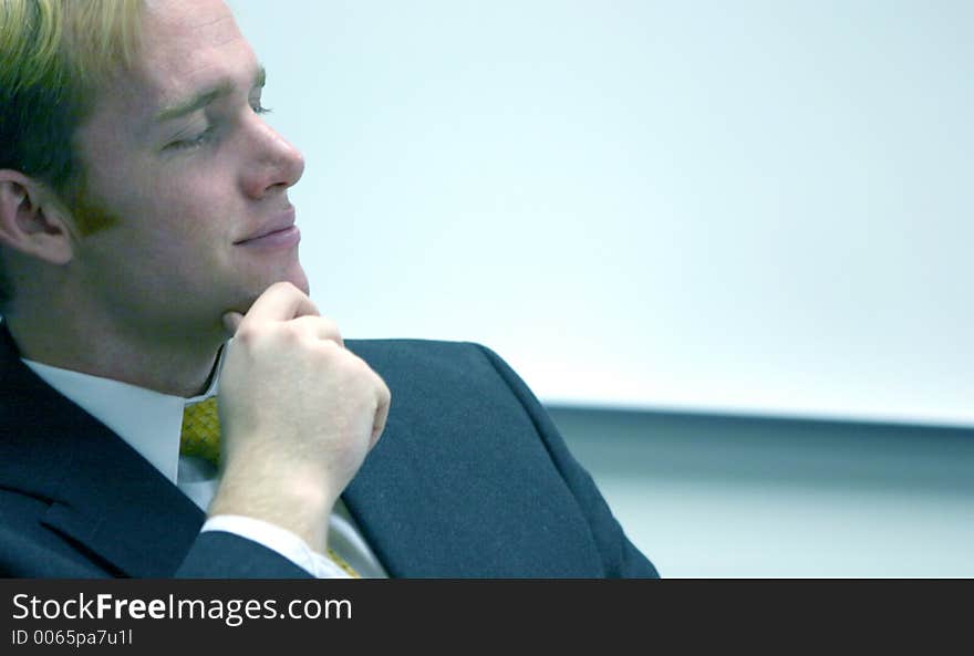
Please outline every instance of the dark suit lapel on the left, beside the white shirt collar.
[[117, 435], [20, 361], [0, 324], [0, 487], [50, 502], [41, 523], [114, 574], [172, 575], [203, 512]]

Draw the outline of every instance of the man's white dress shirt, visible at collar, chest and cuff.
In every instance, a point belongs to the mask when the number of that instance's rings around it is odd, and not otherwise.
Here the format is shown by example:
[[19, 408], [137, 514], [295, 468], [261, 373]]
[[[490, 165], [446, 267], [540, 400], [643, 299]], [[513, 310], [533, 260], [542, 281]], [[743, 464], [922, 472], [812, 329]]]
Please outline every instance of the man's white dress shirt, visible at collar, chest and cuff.
[[[206, 511], [219, 485], [217, 468], [201, 458], [180, 456], [179, 436], [183, 429], [183, 409], [217, 394], [222, 352], [209, 389], [193, 398], [162, 394], [111, 378], [22, 360], [51, 387], [128, 442]], [[312, 551], [297, 534], [261, 520], [217, 516], [209, 518], [201, 530], [227, 531], [258, 542], [319, 579], [349, 577], [330, 558]], [[329, 517], [328, 534], [329, 546], [363, 577], [387, 577], [341, 499]]]

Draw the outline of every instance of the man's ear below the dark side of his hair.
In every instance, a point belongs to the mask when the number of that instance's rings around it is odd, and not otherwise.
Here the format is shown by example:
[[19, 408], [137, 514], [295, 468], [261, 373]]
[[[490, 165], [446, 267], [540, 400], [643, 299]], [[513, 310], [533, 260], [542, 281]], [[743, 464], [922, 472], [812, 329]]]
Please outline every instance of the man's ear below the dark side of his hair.
[[43, 183], [0, 169], [0, 243], [52, 264], [74, 257], [71, 223]]

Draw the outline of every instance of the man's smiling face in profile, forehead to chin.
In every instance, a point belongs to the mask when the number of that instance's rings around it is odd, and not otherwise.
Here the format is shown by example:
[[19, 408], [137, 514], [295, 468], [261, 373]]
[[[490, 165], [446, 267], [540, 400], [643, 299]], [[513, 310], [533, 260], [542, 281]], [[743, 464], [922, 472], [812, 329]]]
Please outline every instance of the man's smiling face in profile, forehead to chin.
[[183, 340], [219, 326], [227, 310], [246, 312], [273, 282], [308, 291], [299, 233], [287, 229], [287, 188], [304, 164], [259, 115], [261, 70], [229, 9], [147, 4], [137, 66], [76, 135], [86, 178], [77, 218], [114, 226], [81, 239], [72, 267], [84, 310]]

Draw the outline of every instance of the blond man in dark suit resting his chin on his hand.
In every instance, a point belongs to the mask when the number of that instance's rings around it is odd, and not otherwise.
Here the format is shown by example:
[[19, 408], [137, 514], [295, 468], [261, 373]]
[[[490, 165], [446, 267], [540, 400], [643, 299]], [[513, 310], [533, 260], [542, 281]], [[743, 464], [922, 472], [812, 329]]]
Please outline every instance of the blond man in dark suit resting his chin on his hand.
[[495, 354], [319, 314], [221, 1], [0, 2], [0, 575], [655, 575]]

